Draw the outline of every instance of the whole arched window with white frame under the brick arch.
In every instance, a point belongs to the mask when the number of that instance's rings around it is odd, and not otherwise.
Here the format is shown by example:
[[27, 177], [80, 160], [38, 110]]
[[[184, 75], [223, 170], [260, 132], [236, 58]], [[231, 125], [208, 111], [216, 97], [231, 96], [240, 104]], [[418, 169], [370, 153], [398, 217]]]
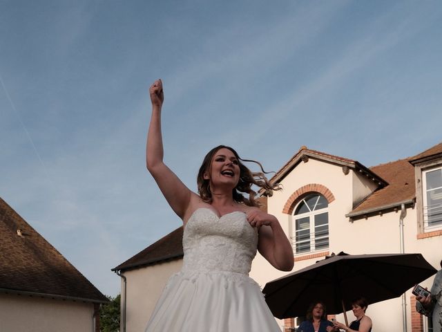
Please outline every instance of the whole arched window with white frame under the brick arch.
[[296, 254], [329, 248], [328, 206], [327, 199], [316, 192], [298, 203], [291, 237]]

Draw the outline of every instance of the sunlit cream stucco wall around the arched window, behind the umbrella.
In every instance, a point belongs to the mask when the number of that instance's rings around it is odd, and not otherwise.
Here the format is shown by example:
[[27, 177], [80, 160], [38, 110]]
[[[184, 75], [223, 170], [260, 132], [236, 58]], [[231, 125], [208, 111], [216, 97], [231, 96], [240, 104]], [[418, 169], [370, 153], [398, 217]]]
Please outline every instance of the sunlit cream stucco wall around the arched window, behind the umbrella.
[[[329, 253], [344, 251], [357, 255], [401, 252], [400, 210], [371, 216], [368, 219], [358, 219], [354, 222], [350, 222], [345, 217], [345, 214], [354, 207], [354, 202], [358, 203], [375, 188], [374, 183], [365, 176], [356, 174], [352, 170], [345, 175], [342, 167], [309, 159], [307, 163], [298, 164], [281, 183], [284, 190], [274, 192], [267, 203], [269, 213], [278, 217], [287, 235], [289, 235], [291, 216], [282, 213], [285, 203], [300, 187], [317, 183], [327, 187], [335, 198], [329, 204]], [[442, 259], [442, 237], [417, 239], [417, 213], [416, 208], [407, 208], [407, 216], [404, 219], [405, 252], [419, 252], [432, 266], [439, 269], [439, 262]], [[294, 271], [314, 264], [320, 259], [323, 257], [295, 261]], [[251, 277], [262, 287], [267, 282], [287, 274], [289, 273], [280, 272], [271, 267], [260, 255], [257, 255], [253, 261]], [[433, 277], [421, 284], [430, 288], [432, 279]], [[361, 285], [361, 293], [363, 293], [363, 285]], [[411, 331], [411, 296], [411, 292], [407, 291], [407, 331]], [[401, 297], [370, 304], [367, 315], [374, 321], [374, 331], [403, 331]], [[347, 313], [347, 317], [349, 322], [354, 320], [351, 311]], [[342, 314], [338, 315], [337, 319], [344, 321]], [[282, 321], [278, 320], [278, 322], [280, 325], [283, 324]]]

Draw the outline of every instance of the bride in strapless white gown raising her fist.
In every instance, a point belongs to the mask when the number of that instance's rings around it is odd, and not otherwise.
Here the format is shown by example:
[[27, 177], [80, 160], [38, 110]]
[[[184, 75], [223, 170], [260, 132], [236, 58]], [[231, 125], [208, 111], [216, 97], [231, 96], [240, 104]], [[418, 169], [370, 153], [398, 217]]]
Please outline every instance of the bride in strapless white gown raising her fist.
[[146, 332], [280, 331], [258, 284], [249, 277], [257, 249], [278, 270], [294, 266], [293, 250], [280, 223], [258, 208], [251, 190], [253, 184], [265, 190], [277, 187], [263, 173], [247, 169], [236, 151], [220, 146], [204, 158], [199, 194], [191, 192], [163, 162], [161, 80], [149, 93], [146, 165], [183, 221], [184, 258], [180, 273], [166, 284]]

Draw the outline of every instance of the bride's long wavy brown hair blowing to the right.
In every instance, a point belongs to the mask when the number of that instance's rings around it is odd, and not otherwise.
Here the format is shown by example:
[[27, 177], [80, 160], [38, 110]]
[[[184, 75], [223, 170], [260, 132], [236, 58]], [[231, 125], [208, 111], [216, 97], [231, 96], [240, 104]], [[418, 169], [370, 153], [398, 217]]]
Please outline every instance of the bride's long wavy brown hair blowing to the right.
[[[210, 167], [212, 165], [213, 156], [219, 149], [229, 149], [233, 152], [235, 157], [238, 159], [238, 166], [240, 167], [240, 180], [235, 188], [232, 190], [233, 199], [238, 203], [244, 203], [249, 206], [259, 206], [258, 201], [255, 199], [256, 192], [251, 189], [252, 185], [256, 185], [262, 189], [265, 189], [267, 193], [271, 193], [273, 190], [280, 190], [279, 185], [272, 185], [265, 174], [265, 170], [262, 165], [256, 160], [241, 159], [238, 153], [231, 147], [225, 145], [218, 145], [209, 151], [204, 157], [200, 170], [198, 171], [197, 184], [198, 184], [198, 194], [200, 194], [201, 199], [206, 203], [212, 202], [212, 193], [210, 191], [210, 181], [204, 179], [204, 174], [210, 174]], [[259, 165], [262, 172], [251, 172], [242, 162], [256, 163]], [[244, 197], [241, 193], [248, 194], [249, 197]]]

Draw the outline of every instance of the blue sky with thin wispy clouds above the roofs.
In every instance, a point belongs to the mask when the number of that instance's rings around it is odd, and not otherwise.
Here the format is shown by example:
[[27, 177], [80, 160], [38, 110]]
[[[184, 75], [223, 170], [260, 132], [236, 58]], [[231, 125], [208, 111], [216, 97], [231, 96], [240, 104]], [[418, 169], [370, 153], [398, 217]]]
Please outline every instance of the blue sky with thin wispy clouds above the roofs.
[[180, 226], [145, 169], [148, 86], [192, 190], [211, 147], [277, 171], [442, 141], [440, 1], [0, 0], [0, 196], [100, 291]]

